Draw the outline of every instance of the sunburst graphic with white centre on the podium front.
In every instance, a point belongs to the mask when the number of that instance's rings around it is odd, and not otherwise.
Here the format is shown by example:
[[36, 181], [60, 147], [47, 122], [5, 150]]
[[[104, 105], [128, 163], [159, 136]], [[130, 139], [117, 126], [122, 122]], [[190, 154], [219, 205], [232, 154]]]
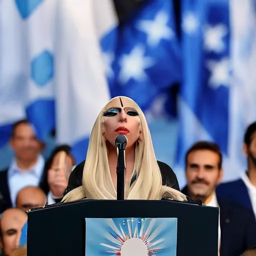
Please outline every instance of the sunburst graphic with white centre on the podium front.
[[106, 234], [108, 243], [100, 243], [109, 256], [156, 256], [164, 249], [164, 238], [158, 238], [163, 225], [155, 218], [128, 218], [115, 224], [108, 219], [111, 230]]

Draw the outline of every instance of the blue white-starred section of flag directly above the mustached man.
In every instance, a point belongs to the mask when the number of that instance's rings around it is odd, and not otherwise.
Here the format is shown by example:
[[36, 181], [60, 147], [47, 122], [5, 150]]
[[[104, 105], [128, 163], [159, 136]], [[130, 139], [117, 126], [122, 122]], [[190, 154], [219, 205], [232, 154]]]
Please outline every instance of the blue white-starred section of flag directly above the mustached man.
[[[197, 140], [215, 141], [228, 154], [228, 0], [183, 0], [181, 17], [183, 82], [176, 160], [183, 169], [185, 152]], [[183, 171], [178, 178], [184, 182]]]

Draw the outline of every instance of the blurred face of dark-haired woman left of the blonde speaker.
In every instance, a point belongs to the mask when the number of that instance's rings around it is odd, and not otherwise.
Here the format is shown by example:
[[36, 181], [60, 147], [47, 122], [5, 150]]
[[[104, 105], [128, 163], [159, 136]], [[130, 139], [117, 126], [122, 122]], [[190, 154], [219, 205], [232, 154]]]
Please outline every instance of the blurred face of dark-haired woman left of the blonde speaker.
[[60, 151], [54, 156], [51, 167], [47, 172], [47, 181], [53, 195], [63, 196], [72, 166], [73, 160], [66, 152]]

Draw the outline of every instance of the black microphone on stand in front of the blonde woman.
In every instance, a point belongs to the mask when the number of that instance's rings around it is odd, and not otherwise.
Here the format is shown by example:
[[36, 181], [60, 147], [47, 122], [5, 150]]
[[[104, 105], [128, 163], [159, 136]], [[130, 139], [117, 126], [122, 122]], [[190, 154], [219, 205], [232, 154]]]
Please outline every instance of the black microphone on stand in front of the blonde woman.
[[123, 134], [115, 137], [115, 146], [117, 149], [117, 166], [116, 166], [116, 199], [125, 199], [125, 147], [127, 145], [127, 138]]

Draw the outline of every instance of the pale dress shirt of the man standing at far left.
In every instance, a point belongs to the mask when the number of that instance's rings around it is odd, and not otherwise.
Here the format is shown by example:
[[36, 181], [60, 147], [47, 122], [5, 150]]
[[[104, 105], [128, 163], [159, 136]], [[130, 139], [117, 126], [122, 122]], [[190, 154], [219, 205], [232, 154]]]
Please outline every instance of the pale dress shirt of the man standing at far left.
[[16, 159], [12, 163], [7, 172], [10, 200], [12, 207], [16, 206], [16, 196], [20, 189], [26, 186], [38, 186], [44, 167], [44, 158], [39, 155], [36, 164], [29, 170], [21, 170], [17, 166]]

